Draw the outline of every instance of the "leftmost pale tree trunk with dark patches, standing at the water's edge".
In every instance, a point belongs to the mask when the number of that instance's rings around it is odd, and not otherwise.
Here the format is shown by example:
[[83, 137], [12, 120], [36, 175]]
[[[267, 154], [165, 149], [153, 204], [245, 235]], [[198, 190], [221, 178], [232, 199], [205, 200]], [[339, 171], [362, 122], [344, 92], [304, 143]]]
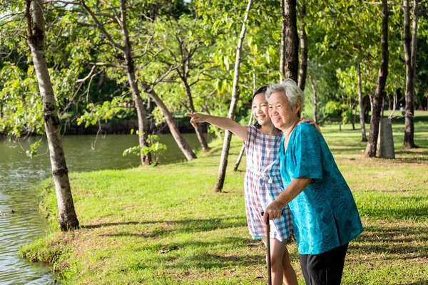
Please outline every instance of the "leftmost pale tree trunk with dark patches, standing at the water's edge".
[[56, 202], [58, 204], [58, 225], [61, 231], [78, 229], [78, 219], [74, 210], [73, 196], [71, 195], [71, 187], [68, 180], [66, 157], [61, 142], [54, 89], [52, 88], [46, 64], [43, 1], [26, 0], [25, 5], [26, 40], [31, 49], [34, 70], [36, 71], [37, 82], [43, 99], [44, 125], [49, 145], [52, 175], [54, 175]]

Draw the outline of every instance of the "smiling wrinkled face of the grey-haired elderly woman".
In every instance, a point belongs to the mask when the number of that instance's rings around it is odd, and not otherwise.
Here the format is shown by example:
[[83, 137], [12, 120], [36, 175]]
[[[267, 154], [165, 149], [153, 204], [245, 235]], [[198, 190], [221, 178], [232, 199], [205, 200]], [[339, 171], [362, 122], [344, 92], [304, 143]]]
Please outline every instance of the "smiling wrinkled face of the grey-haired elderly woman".
[[268, 103], [270, 120], [272, 120], [275, 128], [284, 130], [298, 119], [299, 104], [296, 104], [294, 110], [292, 110], [284, 93], [272, 93], [268, 99]]

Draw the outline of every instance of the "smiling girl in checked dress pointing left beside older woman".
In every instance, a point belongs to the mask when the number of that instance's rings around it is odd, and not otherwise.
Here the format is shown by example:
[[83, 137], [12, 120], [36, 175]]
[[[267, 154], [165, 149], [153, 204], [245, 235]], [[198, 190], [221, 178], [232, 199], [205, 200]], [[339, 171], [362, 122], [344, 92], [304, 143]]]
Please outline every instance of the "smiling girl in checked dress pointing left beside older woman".
[[[284, 187], [280, 175], [279, 149], [282, 133], [274, 127], [268, 115], [269, 108], [265, 98], [267, 86], [262, 86], [253, 95], [253, 115], [255, 125], [239, 125], [229, 118], [215, 117], [200, 113], [186, 114], [190, 123], [208, 122], [218, 128], [230, 130], [242, 138], [247, 153], [247, 172], [245, 173], [245, 209], [248, 229], [253, 239], [262, 239], [266, 244], [263, 216], [267, 205]], [[287, 251], [287, 238], [292, 233], [291, 214], [288, 205], [283, 208], [281, 217], [270, 221], [270, 260], [272, 284], [297, 285], [294, 269]]]

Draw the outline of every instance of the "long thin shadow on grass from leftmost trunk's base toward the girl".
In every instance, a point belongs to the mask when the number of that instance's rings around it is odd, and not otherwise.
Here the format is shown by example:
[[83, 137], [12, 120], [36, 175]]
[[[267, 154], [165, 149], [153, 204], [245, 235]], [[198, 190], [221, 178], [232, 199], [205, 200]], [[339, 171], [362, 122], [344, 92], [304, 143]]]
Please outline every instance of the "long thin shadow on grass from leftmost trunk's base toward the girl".
[[246, 227], [247, 222], [245, 217], [228, 217], [224, 219], [180, 219], [180, 220], [160, 220], [160, 221], [141, 221], [141, 222], [111, 222], [101, 224], [82, 225], [83, 229], [97, 229], [101, 227], [116, 227], [125, 225], [140, 225], [140, 224], [158, 224], [161, 229], [154, 229], [150, 232], [136, 232], [135, 229], [130, 229], [126, 232], [118, 232], [116, 234], [107, 234], [109, 237], [161, 237], [166, 234], [177, 233], [195, 233], [208, 232], [215, 229], [227, 229], [231, 227]]

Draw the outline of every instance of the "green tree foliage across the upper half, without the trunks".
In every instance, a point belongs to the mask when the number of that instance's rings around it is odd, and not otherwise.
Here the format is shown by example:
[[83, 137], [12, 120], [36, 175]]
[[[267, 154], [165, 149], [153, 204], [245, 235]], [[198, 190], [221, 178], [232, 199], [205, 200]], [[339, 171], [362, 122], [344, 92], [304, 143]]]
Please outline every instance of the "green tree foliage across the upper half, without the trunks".
[[[297, 1], [300, 9], [303, 1]], [[113, 2], [111, 2], [113, 3]], [[108, 3], [88, 0], [98, 11], [98, 19], [113, 41], [123, 46], [121, 26], [114, 20]], [[113, 5], [118, 4], [114, 1]], [[227, 115], [233, 83], [236, 43], [242, 25], [245, 1], [126, 1], [127, 25], [131, 37], [136, 78], [152, 85], [171, 113], [190, 110], [188, 90], [180, 78], [187, 76], [193, 105], [197, 111]], [[306, 0], [305, 28], [309, 46], [309, 71], [317, 90], [320, 120], [327, 101], [337, 101], [353, 109], [357, 96], [355, 66], [361, 65], [362, 95], [374, 93], [380, 60], [380, 6], [370, 1]], [[44, 133], [43, 111], [34, 69], [29, 59], [22, 25], [23, 4], [0, 4], [0, 132], [19, 136]], [[118, 96], [131, 97], [128, 77], [123, 68], [96, 66], [106, 63], [124, 66], [123, 53], [112, 48], [95, 22], [76, 2], [46, 4], [46, 59], [58, 102], [61, 122], [97, 123], [109, 112], [104, 102]], [[427, 3], [421, 4], [421, 11]], [[247, 114], [253, 89], [278, 81], [280, 48], [279, 1], [257, 1], [250, 10], [240, 65], [240, 100], [238, 118]], [[404, 55], [402, 46], [402, 10], [389, 4], [389, 75], [387, 94], [404, 90]], [[299, 25], [302, 19], [298, 17]], [[417, 43], [416, 103], [425, 103], [427, 80], [427, 16], [419, 17]], [[186, 63], [187, 59], [189, 62]], [[171, 67], [174, 67], [171, 70]], [[340, 72], [337, 72], [340, 71]], [[167, 74], [168, 73], [168, 74]], [[86, 81], [83, 81], [86, 78]], [[308, 82], [307, 110], [312, 116], [312, 90]], [[141, 86], [139, 86], [141, 87]], [[148, 95], [142, 94], [143, 100]], [[128, 98], [130, 100], [131, 98]], [[106, 103], [108, 104], [108, 103]], [[113, 106], [111, 106], [114, 109]], [[99, 109], [99, 110], [98, 110]], [[104, 110], [103, 110], [104, 109]], [[131, 108], [115, 118], [135, 118]], [[312, 109], [312, 110], [311, 110]], [[344, 115], [345, 120], [350, 114]], [[158, 108], [148, 108], [149, 120], [163, 121]], [[121, 118], [120, 118], [121, 117]]]

